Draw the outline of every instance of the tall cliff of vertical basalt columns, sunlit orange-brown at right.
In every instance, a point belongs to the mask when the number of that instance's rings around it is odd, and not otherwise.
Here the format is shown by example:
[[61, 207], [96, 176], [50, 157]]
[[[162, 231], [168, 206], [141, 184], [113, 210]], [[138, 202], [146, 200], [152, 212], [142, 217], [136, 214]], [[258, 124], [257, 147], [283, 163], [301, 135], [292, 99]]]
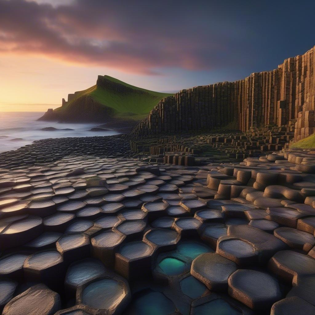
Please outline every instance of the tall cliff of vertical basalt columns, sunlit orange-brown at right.
[[277, 69], [235, 82], [182, 90], [164, 98], [133, 133], [160, 133], [230, 127], [246, 131], [296, 119], [295, 138], [314, 132], [315, 47], [284, 60]]

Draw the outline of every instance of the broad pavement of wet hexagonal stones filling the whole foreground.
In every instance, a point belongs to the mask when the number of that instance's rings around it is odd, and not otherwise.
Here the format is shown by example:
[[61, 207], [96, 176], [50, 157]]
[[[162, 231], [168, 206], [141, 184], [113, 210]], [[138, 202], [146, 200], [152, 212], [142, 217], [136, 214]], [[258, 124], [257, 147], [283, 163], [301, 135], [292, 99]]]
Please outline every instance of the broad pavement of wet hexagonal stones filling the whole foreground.
[[0, 155], [3, 314], [312, 314], [312, 152], [189, 166], [80, 139]]

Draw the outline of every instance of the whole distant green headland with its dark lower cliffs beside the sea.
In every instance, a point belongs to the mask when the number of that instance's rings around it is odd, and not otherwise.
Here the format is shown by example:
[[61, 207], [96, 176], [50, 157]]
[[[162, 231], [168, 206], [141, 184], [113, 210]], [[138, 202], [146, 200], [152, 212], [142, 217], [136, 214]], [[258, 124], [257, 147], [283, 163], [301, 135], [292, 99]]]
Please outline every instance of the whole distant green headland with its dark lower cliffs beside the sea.
[[96, 85], [68, 95], [62, 106], [49, 109], [39, 120], [108, 122], [132, 116], [137, 122], [169, 93], [141, 89], [109, 76], [98, 76]]

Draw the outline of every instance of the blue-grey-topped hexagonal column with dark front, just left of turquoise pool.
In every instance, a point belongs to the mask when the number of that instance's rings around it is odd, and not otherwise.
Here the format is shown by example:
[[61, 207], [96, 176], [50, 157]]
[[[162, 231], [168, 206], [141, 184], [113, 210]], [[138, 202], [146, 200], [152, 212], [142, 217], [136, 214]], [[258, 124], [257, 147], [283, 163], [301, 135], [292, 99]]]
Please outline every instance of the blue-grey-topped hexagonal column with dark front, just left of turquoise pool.
[[116, 253], [115, 270], [124, 278], [134, 280], [151, 274], [151, 258], [154, 248], [145, 242], [122, 245]]

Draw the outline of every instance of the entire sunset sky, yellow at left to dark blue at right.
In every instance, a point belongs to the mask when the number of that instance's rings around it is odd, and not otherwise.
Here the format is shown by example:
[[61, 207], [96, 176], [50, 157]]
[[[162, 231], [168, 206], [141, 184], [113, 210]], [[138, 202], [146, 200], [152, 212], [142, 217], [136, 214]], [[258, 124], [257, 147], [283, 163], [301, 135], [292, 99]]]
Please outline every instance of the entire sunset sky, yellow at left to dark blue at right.
[[235, 81], [315, 45], [314, 1], [0, 0], [0, 111], [110, 75], [156, 91]]

